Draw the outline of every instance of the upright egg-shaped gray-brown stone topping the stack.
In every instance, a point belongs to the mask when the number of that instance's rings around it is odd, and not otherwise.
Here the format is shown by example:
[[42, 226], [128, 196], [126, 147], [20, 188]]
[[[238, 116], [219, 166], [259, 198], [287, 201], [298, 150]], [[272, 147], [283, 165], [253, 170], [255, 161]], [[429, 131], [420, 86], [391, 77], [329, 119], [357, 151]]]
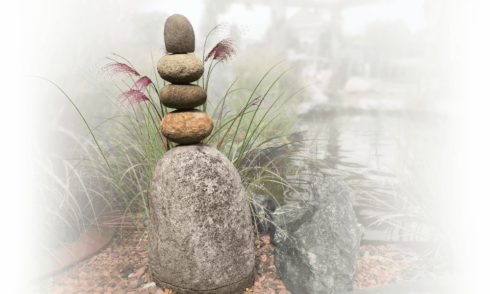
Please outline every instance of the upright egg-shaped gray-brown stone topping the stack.
[[196, 49], [194, 29], [191, 22], [181, 14], [172, 14], [167, 19], [163, 36], [169, 53], [192, 53]]

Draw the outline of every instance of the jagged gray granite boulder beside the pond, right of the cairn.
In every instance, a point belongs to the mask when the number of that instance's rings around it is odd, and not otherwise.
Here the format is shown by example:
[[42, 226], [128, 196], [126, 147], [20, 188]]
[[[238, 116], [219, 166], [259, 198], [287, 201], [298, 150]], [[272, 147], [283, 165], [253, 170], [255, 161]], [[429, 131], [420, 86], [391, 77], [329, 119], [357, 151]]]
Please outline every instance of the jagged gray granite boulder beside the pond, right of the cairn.
[[364, 227], [357, 223], [348, 186], [325, 177], [310, 204], [275, 209], [270, 233], [274, 265], [293, 294], [341, 293], [352, 287]]

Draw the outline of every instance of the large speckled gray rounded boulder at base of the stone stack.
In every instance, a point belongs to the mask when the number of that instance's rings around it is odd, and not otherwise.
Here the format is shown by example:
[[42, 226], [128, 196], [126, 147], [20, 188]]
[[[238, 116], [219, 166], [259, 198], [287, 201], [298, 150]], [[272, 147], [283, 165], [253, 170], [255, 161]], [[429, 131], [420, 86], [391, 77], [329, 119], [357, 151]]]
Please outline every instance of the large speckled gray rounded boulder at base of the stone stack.
[[178, 294], [242, 294], [254, 279], [252, 221], [233, 164], [207, 144], [176, 146], [150, 182], [148, 263]]

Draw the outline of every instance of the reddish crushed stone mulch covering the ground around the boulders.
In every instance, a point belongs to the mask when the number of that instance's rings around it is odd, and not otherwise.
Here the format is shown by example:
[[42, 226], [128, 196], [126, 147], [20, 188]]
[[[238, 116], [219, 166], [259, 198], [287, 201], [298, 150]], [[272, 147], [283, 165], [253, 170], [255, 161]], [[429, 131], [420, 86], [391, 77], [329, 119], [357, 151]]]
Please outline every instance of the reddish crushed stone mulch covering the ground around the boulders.
[[[291, 294], [276, 272], [269, 235], [258, 234], [257, 238], [255, 227], [253, 230], [255, 280], [244, 294]], [[157, 287], [152, 280], [145, 249], [147, 231], [143, 238], [134, 227], [123, 229], [118, 235], [121, 238], [114, 238], [95, 255], [46, 280], [49, 294], [175, 294]], [[361, 246], [352, 290], [429, 277], [428, 265], [433, 264], [433, 259], [418, 256], [399, 245]]]

